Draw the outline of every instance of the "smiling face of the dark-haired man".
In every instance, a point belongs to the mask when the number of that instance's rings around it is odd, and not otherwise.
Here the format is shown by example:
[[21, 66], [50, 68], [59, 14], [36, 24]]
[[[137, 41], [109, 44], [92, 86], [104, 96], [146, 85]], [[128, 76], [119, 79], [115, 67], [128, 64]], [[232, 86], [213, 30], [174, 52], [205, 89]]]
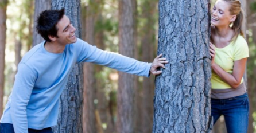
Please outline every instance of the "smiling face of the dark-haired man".
[[76, 42], [77, 38], [75, 35], [76, 28], [73, 27], [71, 24], [69, 18], [64, 15], [63, 18], [60, 19], [60, 21], [57, 23], [57, 36], [58, 38], [56, 41], [59, 44], [72, 44]]

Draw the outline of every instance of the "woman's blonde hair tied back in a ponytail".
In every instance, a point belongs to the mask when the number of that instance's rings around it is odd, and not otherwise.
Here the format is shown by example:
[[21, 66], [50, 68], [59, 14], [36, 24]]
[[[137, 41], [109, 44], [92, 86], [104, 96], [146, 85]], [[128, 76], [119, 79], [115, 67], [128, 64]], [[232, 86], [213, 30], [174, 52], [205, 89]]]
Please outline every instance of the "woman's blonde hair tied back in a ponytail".
[[239, 34], [244, 37], [244, 34], [243, 34], [244, 12], [243, 12], [243, 9], [241, 8], [241, 2], [239, 0], [222, 0], [222, 1], [229, 3], [230, 14], [236, 15], [235, 21], [232, 22], [231, 24], [232, 25], [231, 29], [234, 30], [234, 36], [232, 40], [236, 40]]

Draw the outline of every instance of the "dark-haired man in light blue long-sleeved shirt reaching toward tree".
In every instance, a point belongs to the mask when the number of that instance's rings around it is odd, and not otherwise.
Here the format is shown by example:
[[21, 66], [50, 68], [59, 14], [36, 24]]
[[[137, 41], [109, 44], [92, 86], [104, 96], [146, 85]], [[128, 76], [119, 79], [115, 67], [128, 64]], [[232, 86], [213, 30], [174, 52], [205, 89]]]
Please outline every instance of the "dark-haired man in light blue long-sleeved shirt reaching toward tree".
[[37, 32], [45, 39], [22, 58], [15, 75], [13, 92], [1, 118], [3, 132], [52, 132], [57, 124], [59, 97], [69, 72], [77, 62], [92, 62], [118, 71], [158, 75], [165, 58], [152, 64], [120, 54], [105, 52], [76, 38], [75, 28], [61, 10], [45, 10], [37, 20]]

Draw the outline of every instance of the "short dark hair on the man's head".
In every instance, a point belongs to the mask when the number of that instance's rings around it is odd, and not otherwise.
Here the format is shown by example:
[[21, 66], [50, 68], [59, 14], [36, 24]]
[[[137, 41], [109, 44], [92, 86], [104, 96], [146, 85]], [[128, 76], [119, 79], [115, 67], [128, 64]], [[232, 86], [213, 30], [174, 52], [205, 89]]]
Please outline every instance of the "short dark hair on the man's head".
[[65, 9], [60, 10], [45, 10], [40, 13], [37, 18], [37, 33], [44, 38], [44, 40], [51, 42], [48, 36], [57, 36], [57, 23], [63, 18]]

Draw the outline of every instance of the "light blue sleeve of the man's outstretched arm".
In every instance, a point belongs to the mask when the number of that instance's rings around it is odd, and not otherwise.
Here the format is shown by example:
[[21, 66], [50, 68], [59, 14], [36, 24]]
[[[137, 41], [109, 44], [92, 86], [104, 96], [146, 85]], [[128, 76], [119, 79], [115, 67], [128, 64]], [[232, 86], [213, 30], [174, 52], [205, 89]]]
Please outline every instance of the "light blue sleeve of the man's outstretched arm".
[[137, 61], [118, 53], [107, 52], [82, 40], [79, 41], [80, 45], [77, 45], [79, 48], [76, 49], [78, 51], [77, 62], [92, 62], [121, 72], [149, 77], [151, 63]]

